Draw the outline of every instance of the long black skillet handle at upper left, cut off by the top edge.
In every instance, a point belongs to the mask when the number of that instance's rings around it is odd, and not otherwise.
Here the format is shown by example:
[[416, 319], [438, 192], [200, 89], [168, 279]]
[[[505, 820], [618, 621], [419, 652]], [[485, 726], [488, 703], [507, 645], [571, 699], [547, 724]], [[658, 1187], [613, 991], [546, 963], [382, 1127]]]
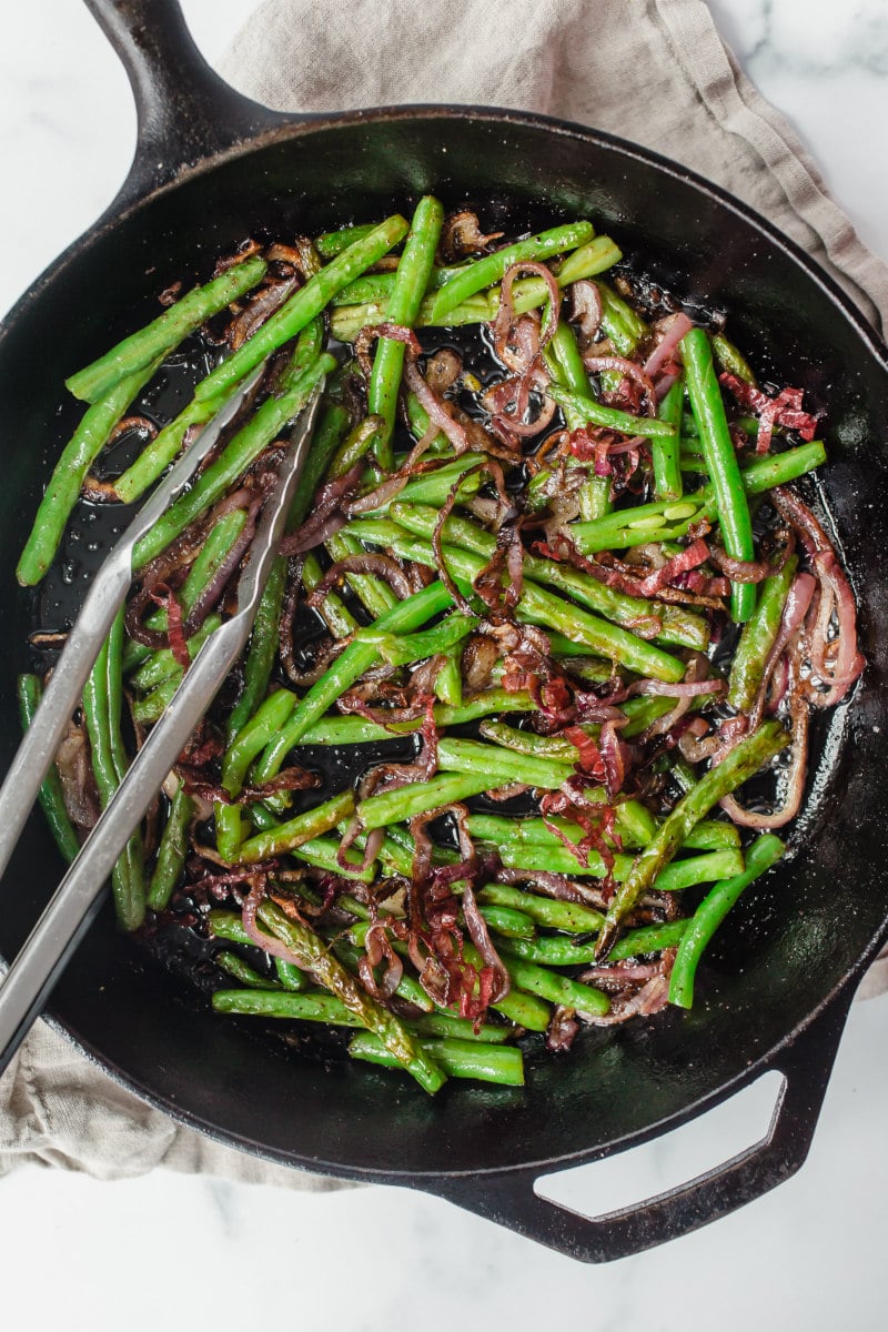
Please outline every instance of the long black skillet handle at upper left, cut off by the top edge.
[[112, 209], [136, 202], [185, 168], [310, 116], [280, 115], [236, 92], [194, 45], [178, 0], [87, 0], [129, 77], [138, 136]]

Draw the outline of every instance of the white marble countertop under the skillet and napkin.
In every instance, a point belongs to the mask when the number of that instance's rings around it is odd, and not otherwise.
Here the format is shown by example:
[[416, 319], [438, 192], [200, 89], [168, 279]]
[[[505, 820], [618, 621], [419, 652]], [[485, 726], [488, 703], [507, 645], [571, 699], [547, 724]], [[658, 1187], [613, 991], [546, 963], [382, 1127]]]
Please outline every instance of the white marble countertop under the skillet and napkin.
[[[184, 8], [213, 61], [254, 0]], [[888, 260], [884, 0], [712, 0], [711, 8], [861, 237]], [[134, 137], [125, 77], [84, 5], [9, 5], [3, 31], [0, 310], [111, 201]], [[0, 1183], [0, 1253], [13, 1277], [4, 1285], [7, 1316], [21, 1300], [37, 1327], [77, 1309], [93, 1328], [130, 1332], [282, 1315], [354, 1332], [406, 1317], [425, 1332], [491, 1317], [515, 1332], [543, 1319], [598, 1332], [884, 1327], [887, 1019], [887, 998], [852, 1010], [796, 1176], [639, 1257], [586, 1268], [409, 1191], [317, 1196], [165, 1173], [100, 1184], [23, 1169]], [[726, 1159], [763, 1132], [772, 1099], [772, 1086], [754, 1090], [744, 1104], [696, 1122], [690, 1147], [674, 1135], [643, 1150], [640, 1164], [620, 1158], [618, 1183], [647, 1196]], [[603, 1209], [612, 1166], [584, 1168], [571, 1196]]]

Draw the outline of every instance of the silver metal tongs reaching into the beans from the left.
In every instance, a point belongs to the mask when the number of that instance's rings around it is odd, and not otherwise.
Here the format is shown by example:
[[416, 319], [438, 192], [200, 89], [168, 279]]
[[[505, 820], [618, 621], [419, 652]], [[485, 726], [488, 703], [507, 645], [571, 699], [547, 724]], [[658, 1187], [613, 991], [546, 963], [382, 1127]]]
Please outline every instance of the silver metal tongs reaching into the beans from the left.
[[[93, 579], [40, 707], [0, 787], [0, 875], [9, 863], [105, 635], [125, 601], [133, 581], [136, 543], [185, 489], [261, 373], [252, 376], [178, 458]], [[236, 614], [201, 646], [164, 717], [150, 731], [0, 984], [0, 1072], [99, 912], [108, 876], [133, 829], [246, 643], [308, 454], [322, 388], [324, 381], [296, 418], [277, 488], [265, 503], [249, 561], [240, 575]]]

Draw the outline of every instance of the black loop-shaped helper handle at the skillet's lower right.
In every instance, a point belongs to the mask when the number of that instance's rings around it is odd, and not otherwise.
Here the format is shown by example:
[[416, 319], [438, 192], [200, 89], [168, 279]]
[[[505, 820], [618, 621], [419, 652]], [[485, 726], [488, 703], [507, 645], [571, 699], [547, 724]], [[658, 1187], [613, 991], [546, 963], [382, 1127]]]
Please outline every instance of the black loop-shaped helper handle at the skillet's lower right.
[[767, 1135], [667, 1193], [587, 1217], [539, 1197], [534, 1192], [537, 1169], [426, 1179], [418, 1187], [583, 1263], [610, 1263], [687, 1235], [760, 1197], [803, 1164], [852, 995], [853, 987], [845, 987], [766, 1068], [756, 1070], [776, 1068], [784, 1078]]

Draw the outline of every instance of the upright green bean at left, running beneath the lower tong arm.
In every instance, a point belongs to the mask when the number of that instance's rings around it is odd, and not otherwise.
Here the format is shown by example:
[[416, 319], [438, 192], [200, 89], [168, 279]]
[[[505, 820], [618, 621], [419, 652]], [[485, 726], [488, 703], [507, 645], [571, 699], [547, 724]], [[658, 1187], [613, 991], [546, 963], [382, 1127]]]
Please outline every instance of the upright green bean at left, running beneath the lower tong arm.
[[[122, 613], [103, 643], [84, 687], [84, 721], [89, 735], [92, 767], [103, 810], [113, 799], [124, 773], [120, 741], [120, 685]], [[117, 920], [124, 930], [137, 930], [145, 918], [145, 883], [141, 834], [126, 842], [111, 876]]]

